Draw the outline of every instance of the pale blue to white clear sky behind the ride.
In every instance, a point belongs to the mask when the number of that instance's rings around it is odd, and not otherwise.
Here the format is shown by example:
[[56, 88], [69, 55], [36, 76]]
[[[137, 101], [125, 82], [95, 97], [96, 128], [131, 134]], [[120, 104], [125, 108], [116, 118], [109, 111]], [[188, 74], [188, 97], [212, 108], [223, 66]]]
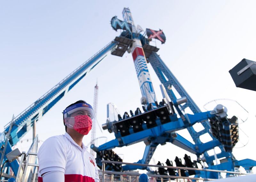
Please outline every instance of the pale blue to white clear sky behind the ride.
[[[249, 143], [233, 153], [237, 159], [256, 160], [256, 92], [236, 88], [228, 73], [243, 58], [256, 61], [255, 5], [249, 0], [1, 1], [0, 126], [118, 36], [110, 20], [115, 15], [123, 19], [123, 8], [129, 7], [136, 25], [144, 30], [163, 29], [166, 43], [156, 41], [158, 54], [203, 111], [205, 103], [217, 98], [236, 100], [248, 110], [249, 118], [240, 127], [249, 136]], [[160, 82], [150, 64], [148, 67], [160, 101]], [[132, 56], [108, 55], [38, 122], [40, 140], [65, 132], [61, 112], [66, 106], [80, 99], [93, 103], [97, 78], [100, 125], [106, 122], [109, 102], [115, 103], [121, 114], [141, 107]], [[107, 131], [97, 136], [114, 138]], [[32, 138], [32, 131], [24, 138]], [[90, 135], [84, 138], [85, 144], [89, 142]], [[144, 147], [142, 142], [114, 150], [124, 154], [124, 161], [137, 162]], [[132, 155], [135, 150], [136, 155]], [[183, 158], [185, 153], [189, 154], [168, 143], [158, 146], [153, 158], [165, 162], [166, 158]]]

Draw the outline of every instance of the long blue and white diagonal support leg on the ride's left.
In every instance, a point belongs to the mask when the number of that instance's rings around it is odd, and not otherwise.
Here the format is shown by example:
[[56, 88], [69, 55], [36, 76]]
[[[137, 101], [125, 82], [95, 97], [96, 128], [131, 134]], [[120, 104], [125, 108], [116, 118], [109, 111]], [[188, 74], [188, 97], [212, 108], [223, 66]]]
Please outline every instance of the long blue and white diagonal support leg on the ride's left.
[[[50, 91], [48, 91], [41, 98], [36, 100], [36, 102], [33, 103], [31, 106], [29, 106], [27, 109], [25, 109], [25, 111], [20, 113], [14, 119], [14, 124], [12, 127], [10, 139], [8, 141], [8, 146], [5, 154], [12, 151], [11, 146], [19, 142], [20, 139], [28, 132], [28, 130], [33, 126], [33, 121], [34, 120], [38, 121], [40, 110], [43, 109], [41, 116], [47, 113], [52, 108], [52, 106], [54, 106], [66, 94], [66, 92], [71, 90], [86, 75], [86, 73], [92, 70], [103, 58], [105, 58], [108, 51], [113, 49], [116, 45], [117, 45], [116, 41], [111, 41], [107, 46], [102, 48], [98, 53], [93, 55], [89, 60], [84, 62], [70, 75], [68, 75], [66, 78], [60, 81]], [[90, 68], [91, 66], [92, 68], [87, 72], [85, 72], [86, 69]], [[73, 84], [71, 84], [72, 82]], [[47, 104], [48, 102], [50, 103]], [[9, 127], [10, 126], [5, 127], [5, 130], [2, 134], [7, 133], [9, 130]], [[5, 139], [0, 142], [5, 142]], [[0, 157], [1, 157], [1, 154], [0, 154]], [[6, 157], [4, 157], [4, 159], [6, 159]], [[14, 174], [16, 175], [19, 168], [18, 162], [14, 161], [8, 165], [11, 166], [12, 170], [14, 171]]]

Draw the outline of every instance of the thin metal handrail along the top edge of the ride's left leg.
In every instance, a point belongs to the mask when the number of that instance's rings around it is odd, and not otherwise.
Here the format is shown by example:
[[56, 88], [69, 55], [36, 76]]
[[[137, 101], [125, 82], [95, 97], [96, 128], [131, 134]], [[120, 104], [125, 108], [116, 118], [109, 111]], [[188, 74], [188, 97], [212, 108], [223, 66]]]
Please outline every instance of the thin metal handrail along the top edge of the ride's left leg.
[[[112, 40], [110, 43], [108, 43], [105, 47], [103, 47], [102, 49], [100, 49], [96, 54], [92, 55], [88, 60], [86, 60], [83, 64], [81, 64], [78, 68], [76, 68], [74, 71], [72, 71], [68, 76], [66, 76], [65, 78], [63, 78], [58, 84], [56, 84], [55, 86], [53, 86], [49, 91], [47, 91], [44, 95], [42, 95], [39, 99], [37, 99], [36, 101], [44, 98], [48, 93], [50, 93], [52, 90], [54, 90], [55, 88], [57, 88], [64, 80], [66, 80], [70, 75], [72, 75], [73, 73], [75, 73], [78, 69], [80, 69], [82, 66], [84, 66], [87, 62], [89, 62], [93, 57], [95, 57], [96, 55], [98, 55], [103, 49], [105, 49], [106, 47], [108, 47], [111, 43], [115, 42], [114, 40]], [[28, 111], [32, 106], [35, 105], [35, 102], [33, 102], [30, 106], [28, 106], [24, 111], [22, 111], [20, 114], [18, 114], [14, 120], [16, 120], [17, 118], [19, 118], [23, 113], [25, 113], [26, 111]], [[11, 121], [8, 122], [5, 126], [4, 129], [6, 129], [7, 127], [9, 127]]]

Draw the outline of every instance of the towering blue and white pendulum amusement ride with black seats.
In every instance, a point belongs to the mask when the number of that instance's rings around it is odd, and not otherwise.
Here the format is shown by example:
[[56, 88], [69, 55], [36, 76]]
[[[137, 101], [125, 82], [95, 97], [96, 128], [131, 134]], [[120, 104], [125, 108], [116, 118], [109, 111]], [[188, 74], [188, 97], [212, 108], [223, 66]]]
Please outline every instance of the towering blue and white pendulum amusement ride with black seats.
[[[95, 69], [97, 64], [106, 59], [108, 54], [122, 57], [126, 51], [132, 54], [142, 95], [140, 99], [142, 110], [138, 106], [136, 110], [130, 110], [122, 115], [118, 114], [115, 120], [107, 118], [107, 122], [102, 125], [102, 128], [108, 130], [109, 133], [113, 133], [115, 139], [100, 146], [91, 143], [91, 153], [95, 152], [97, 154], [96, 162], [99, 168], [102, 166], [102, 160], [122, 162], [122, 159], [112, 149], [138, 142], [144, 142], [146, 147], [139, 161], [131, 161], [136, 164], [149, 164], [157, 146], [170, 142], [195, 154], [197, 160], [191, 161], [190, 156], [186, 154], [184, 157], [176, 157], [173, 161], [167, 159], [166, 165], [168, 166], [173, 166], [175, 163], [179, 167], [198, 168], [198, 164], [201, 164], [203, 169], [223, 171], [235, 171], [240, 166], [246, 171], [250, 171], [252, 167], [256, 166], [256, 161], [252, 159], [236, 160], [236, 157], [232, 154], [233, 148], [239, 141], [237, 116], [228, 116], [227, 108], [221, 104], [216, 105], [211, 111], [202, 112], [157, 54], [159, 48], [150, 45], [152, 39], [157, 39], [162, 44], [165, 43], [166, 38], [162, 30], [156, 31], [147, 28], [144, 31], [139, 25], [135, 26], [129, 8], [123, 10], [123, 21], [114, 16], [111, 19], [111, 26], [116, 31], [118, 29], [122, 30], [121, 34], [6, 124], [0, 140], [2, 146], [1, 167], [5, 167], [4, 173], [6, 175], [11, 172], [14, 176], [19, 175], [19, 161], [13, 160], [10, 162], [9, 160], [10, 154], [17, 152], [12, 150], [12, 146], [20, 142], [30, 129], [33, 127], [35, 129], [36, 122], [68, 94], [81, 79], [86, 77], [92, 69]], [[148, 64], [151, 64], [161, 82], [160, 88], [163, 98], [160, 100], [156, 99]], [[95, 92], [98, 91], [96, 86]], [[173, 91], [174, 89], [178, 94]], [[97, 93], [94, 97], [97, 98]], [[189, 108], [193, 114], [186, 113], [186, 108]], [[201, 131], [195, 131], [193, 128], [196, 123], [203, 125]], [[191, 135], [193, 142], [177, 133], [177, 131], [185, 128]], [[93, 132], [94, 139], [95, 131]], [[212, 140], [202, 142], [200, 136], [204, 134], [209, 134]], [[36, 135], [34, 135], [34, 140], [38, 140]], [[210, 156], [207, 151], [215, 147], [219, 147], [221, 152]], [[183, 159], [181, 160], [181, 158], [184, 158], [185, 162], [182, 162]], [[220, 164], [214, 164], [217, 159], [220, 160]], [[7, 162], [3, 164], [4, 161]], [[205, 163], [207, 167], [204, 165]], [[158, 165], [161, 165], [161, 163]], [[140, 169], [160, 175], [177, 175], [175, 170], [172, 169], [164, 170], [163, 168], [156, 172], [142, 165], [108, 163], [105, 168], [109, 171]], [[218, 173], [211, 171], [181, 170], [181, 175], [195, 175], [198, 178], [219, 178]]]

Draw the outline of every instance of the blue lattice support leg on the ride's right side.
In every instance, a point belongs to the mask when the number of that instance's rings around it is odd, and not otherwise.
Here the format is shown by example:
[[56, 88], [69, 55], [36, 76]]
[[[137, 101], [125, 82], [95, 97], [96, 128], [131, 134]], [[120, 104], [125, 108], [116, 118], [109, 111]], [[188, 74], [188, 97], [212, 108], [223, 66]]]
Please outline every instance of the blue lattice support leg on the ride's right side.
[[[188, 102], [183, 106], [180, 105], [180, 108], [183, 111], [185, 110], [185, 108], [189, 107], [193, 113], [200, 113], [201, 112], [199, 107], [196, 105], [196, 103], [193, 101], [193, 99], [188, 95], [187, 91], [182, 87], [180, 82], [172, 74], [170, 69], [165, 65], [163, 60], [159, 57], [159, 55], [156, 54], [156, 52], [152, 52], [152, 54], [148, 58], [148, 62], [150, 62], [150, 64], [152, 65], [153, 69], [156, 72], [156, 75], [158, 76], [161, 83], [164, 84], [164, 87], [165, 87], [165, 89], [168, 93], [168, 96], [172, 100], [177, 99], [174, 92], [171, 89], [172, 86], [176, 89], [176, 91], [180, 94], [181, 97], [186, 97], [187, 98]], [[210, 125], [209, 125], [209, 122], [207, 120], [203, 121], [201, 123], [204, 126], [204, 129], [200, 132], [196, 132], [193, 127], [188, 127], [187, 129], [188, 129], [189, 134], [191, 135], [193, 141], [196, 143], [196, 145], [200, 149], [200, 152], [204, 153], [204, 157], [206, 159], [206, 163], [208, 164], [209, 168], [234, 171], [234, 163], [243, 164], [243, 163], [237, 162], [237, 160], [235, 160], [235, 157], [233, 156], [232, 153], [225, 152], [224, 147], [220, 144], [220, 142], [215, 137], [213, 137], [211, 133], [209, 133]], [[209, 148], [206, 147], [207, 149], [205, 150], [205, 144], [203, 144], [199, 140], [199, 136], [201, 136], [205, 133], [209, 133], [209, 135], [212, 137], [212, 139], [213, 139], [211, 141], [212, 143], [215, 143], [215, 144], [218, 143], [218, 145], [212, 145], [212, 147], [210, 149], [214, 148], [215, 146], [219, 146], [220, 149], [221, 149], [221, 153], [217, 154], [217, 158], [226, 157], [227, 160], [228, 160], [228, 162], [226, 164], [213, 165], [212, 161], [214, 160], [214, 156], [209, 156], [207, 154], [206, 151], [209, 150]], [[197, 156], [198, 156], [198, 154], [197, 154]], [[255, 161], [250, 160], [250, 162], [248, 162], [247, 164], [250, 167], [255, 166]], [[241, 166], [246, 166], [246, 165], [243, 164]], [[210, 174], [208, 174], [208, 176], [205, 176], [205, 173], [201, 173], [200, 176], [209, 178], [213, 174], [214, 173], [210, 172]], [[214, 174], [214, 175], [216, 175], [216, 174]]]

